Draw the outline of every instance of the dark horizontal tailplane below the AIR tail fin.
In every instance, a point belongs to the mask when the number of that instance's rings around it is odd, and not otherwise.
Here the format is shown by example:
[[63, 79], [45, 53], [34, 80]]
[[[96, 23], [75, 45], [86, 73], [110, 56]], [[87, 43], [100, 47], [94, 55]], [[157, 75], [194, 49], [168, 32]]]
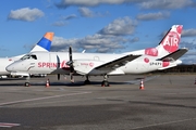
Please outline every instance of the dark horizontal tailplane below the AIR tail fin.
[[160, 61], [176, 61], [179, 57], [181, 57], [182, 55], [184, 55], [186, 52], [188, 51], [188, 49], [184, 48], [184, 49], [179, 49], [173, 53], [170, 53], [166, 56], [163, 56], [162, 58], [160, 58]]

